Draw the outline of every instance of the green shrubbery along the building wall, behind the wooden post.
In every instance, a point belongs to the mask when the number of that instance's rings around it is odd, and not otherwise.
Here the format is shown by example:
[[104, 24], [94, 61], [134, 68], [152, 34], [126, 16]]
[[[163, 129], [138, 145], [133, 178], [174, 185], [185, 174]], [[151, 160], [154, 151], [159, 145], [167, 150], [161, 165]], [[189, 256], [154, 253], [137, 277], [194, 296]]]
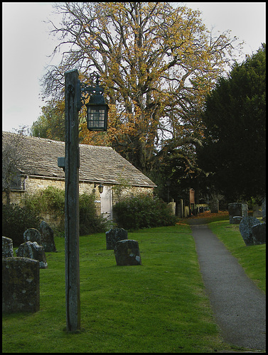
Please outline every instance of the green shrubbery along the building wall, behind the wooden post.
[[[107, 230], [108, 222], [102, 215], [98, 216], [95, 208], [95, 195], [79, 196], [80, 236], [100, 233]], [[57, 187], [47, 187], [28, 195], [25, 206], [2, 204], [2, 236], [13, 239], [14, 246], [23, 243], [23, 233], [28, 228], [39, 229], [42, 214], [62, 217], [63, 223], [53, 228], [54, 234], [64, 236], [65, 191]]]

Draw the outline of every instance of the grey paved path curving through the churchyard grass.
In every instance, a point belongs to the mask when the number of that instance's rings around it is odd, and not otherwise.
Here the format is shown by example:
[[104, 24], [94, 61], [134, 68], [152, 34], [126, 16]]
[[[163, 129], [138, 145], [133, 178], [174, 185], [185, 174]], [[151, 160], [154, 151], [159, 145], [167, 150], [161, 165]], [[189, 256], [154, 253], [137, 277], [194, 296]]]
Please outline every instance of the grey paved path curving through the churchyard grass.
[[205, 219], [189, 219], [205, 290], [229, 344], [266, 349], [266, 297], [237, 259], [213, 234]]

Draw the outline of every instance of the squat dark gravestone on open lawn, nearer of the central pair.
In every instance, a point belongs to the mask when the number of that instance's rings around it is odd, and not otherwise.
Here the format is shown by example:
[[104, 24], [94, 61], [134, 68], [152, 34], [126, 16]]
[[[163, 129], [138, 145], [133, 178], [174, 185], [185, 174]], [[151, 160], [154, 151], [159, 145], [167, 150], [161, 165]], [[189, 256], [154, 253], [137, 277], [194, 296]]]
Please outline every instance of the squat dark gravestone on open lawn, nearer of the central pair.
[[117, 241], [114, 246], [114, 256], [118, 266], [141, 265], [139, 243], [133, 239]]

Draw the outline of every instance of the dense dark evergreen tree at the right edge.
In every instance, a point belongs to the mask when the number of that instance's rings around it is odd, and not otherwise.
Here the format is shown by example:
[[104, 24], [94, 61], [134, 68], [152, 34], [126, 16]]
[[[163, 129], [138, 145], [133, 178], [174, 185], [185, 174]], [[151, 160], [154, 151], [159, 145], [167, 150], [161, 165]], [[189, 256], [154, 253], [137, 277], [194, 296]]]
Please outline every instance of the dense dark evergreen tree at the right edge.
[[198, 164], [230, 202], [265, 194], [266, 45], [208, 95]]

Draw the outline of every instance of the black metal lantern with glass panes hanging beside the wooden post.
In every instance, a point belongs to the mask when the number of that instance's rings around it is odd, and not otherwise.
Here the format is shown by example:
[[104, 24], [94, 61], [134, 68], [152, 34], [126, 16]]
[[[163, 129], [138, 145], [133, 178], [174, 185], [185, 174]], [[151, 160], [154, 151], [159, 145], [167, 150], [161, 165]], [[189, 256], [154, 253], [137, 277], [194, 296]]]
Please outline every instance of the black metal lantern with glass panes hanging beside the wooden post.
[[87, 107], [87, 129], [90, 131], [107, 131], [109, 106], [105, 103], [101, 92], [90, 96]]

